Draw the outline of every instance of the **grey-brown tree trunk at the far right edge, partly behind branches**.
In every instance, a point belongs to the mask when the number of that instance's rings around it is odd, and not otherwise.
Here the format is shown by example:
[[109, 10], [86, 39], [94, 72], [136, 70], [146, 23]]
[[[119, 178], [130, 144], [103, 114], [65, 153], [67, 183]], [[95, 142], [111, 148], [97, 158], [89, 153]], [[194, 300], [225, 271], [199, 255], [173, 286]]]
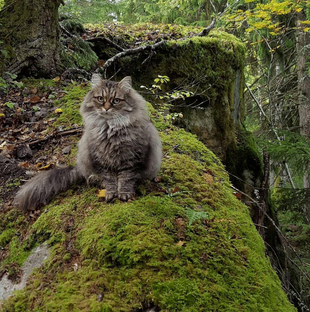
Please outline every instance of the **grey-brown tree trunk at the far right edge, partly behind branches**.
[[[310, 77], [307, 74], [308, 63], [308, 48], [310, 38], [308, 32], [303, 31], [303, 25], [300, 21], [306, 20], [305, 13], [300, 11], [297, 13], [297, 36], [296, 36], [296, 51], [297, 51], [297, 68], [298, 68], [298, 110], [299, 110], [299, 125], [301, 127], [300, 134], [310, 135]], [[304, 168], [305, 174], [303, 177], [303, 187], [310, 187], [309, 168]], [[310, 220], [310, 206], [307, 204], [304, 207], [306, 217]]]

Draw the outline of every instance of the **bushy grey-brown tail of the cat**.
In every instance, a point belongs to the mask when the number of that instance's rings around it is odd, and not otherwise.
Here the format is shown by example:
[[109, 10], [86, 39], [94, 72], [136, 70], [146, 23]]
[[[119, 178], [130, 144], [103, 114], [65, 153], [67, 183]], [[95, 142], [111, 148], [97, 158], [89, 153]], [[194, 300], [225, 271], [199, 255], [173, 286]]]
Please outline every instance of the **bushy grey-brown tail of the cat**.
[[36, 209], [47, 204], [51, 196], [80, 179], [79, 172], [72, 166], [39, 173], [17, 192], [14, 203], [22, 210]]

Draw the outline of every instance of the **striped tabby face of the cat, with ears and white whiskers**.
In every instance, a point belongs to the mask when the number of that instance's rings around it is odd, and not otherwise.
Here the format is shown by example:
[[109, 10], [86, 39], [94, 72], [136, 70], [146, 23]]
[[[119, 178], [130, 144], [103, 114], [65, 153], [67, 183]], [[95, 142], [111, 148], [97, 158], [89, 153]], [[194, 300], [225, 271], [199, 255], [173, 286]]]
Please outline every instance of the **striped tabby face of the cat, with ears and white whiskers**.
[[106, 119], [124, 116], [133, 110], [133, 101], [129, 96], [131, 78], [125, 77], [120, 82], [102, 80], [99, 75], [92, 77], [90, 100], [87, 111], [93, 112]]

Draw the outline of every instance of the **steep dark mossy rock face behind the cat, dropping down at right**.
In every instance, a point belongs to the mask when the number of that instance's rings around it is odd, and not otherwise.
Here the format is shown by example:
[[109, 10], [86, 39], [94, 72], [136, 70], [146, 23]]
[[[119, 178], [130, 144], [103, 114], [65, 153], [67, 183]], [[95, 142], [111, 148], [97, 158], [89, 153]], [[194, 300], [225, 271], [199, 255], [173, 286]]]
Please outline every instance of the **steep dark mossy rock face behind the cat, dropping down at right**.
[[[147, 37], [148, 34], [143, 36]], [[145, 65], [143, 61], [148, 56], [140, 54], [128, 57], [115, 64], [109, 74], [117, 73], [119, 78], [132, 76], [137, 89], [140, 85], [150, 87], [157, 75], [166, 75], [170, 83], [163, 84], [162, 90], [180, 87], [179, 90], [182, 90], [187, 86], [186, 90], [194, 92], [192, 97], [173, 102], [171, 111], [183, 115], [178, 124], [196, 134], [221, 159], [235, 187], [252, 198], [257, 197], [254, 191], [260, 190], [260, 203], [264, 202], [265, 211], [278, 225], [268, 190], [263, 190], [262, 156], [253, 135], [243, 126], [244, 45], [234, 36], [212, 30], [207, 37], [169, 41], [156, 50], [156, 54]], [[149, 99], [154, 100], [152, 97]], [[269, 166], [268, 163], [265, 165]], [[292, 302], [299, 306], [302, 300], [310, 308], [297, 283], [298, 269], [287, 261], [291, 256], [285, 241], [257, 206], [251, 206], [251, 217], [255, 224], [259, 224], [258, 231], [266, 241], [268, 255], [276, 271], [282, 272], [282, 268], [287, 267], [288, 273], [279, 273], [279, 277], [286, 291], [293, 294], [290, 295]]]

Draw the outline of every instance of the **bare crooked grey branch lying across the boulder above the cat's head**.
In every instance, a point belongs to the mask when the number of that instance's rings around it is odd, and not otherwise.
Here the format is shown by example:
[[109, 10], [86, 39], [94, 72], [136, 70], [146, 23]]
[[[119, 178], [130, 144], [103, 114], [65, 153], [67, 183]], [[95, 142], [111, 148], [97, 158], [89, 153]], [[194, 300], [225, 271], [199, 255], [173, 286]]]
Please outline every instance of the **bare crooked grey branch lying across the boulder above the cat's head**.
[[[213, 29], [215, 27], [215, 21], [216, 21], [216, 19], [213, 18], [211, 24], [208, 27], [204, 28], [200, 33], [193, 35], [190, 38], [196, 37], [196, 36], [199, 36], [199, 37], [206, 36], [211, 31], [211, 29]], [[188, 37], [178, 39], [178, 40], [185, 40], [185, 39], [188, 39]], [[111, 66], [115, 61], [120, 59], [121, 57], [128, 56], [128, 55], [135, 55], [135, 54], [138, 54], [138, 53], [141, 53], [144, 51], [150, 51], [151, 52], [150, 55], [147, 57], [147, 59], [145, 61], [143, 61], [143, 64], [145, 64], [145, 62], [148, 61], [152, 57], [152, 55], [154, 54], [154, 50], [157, 49], [158, 47], [162, 46], [165, 42], [167, 42], [167, 40], [162, 40], [162, 41], [159, 41], [159, 42], [151, 44], [151, 45], [139, 46], [138, 48], [135, 48], [135, 49], [127, 49], [127, 50], [124, 50], [122, 52], [119, 52], [119, 53], [115, 54], [114, 56], [112, 56], [111, 58], [109, 58], [104, 63], [104, 66], [98, 67], [96, 71], [99, 72], [100, 69], [102, 71], [104, 71], [104, 78], [106, 78], [107, 68], [109, 66]]]

